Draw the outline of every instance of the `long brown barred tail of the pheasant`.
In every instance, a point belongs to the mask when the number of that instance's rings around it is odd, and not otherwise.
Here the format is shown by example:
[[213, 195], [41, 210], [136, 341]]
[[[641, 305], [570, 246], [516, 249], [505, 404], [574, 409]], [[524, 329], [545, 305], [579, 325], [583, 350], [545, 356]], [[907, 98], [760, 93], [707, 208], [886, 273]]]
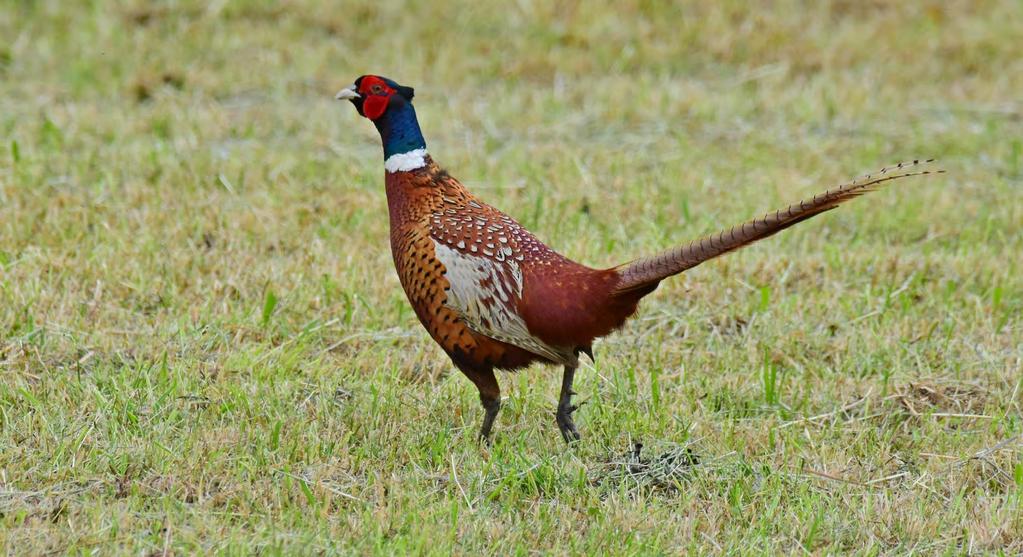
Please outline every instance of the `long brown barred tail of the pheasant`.
[[648, 289], [668, 276], [678, 274], [704, 261], [780, 232], [825, 211], [831, 211], [868, 191], [879, 189], [885, 182], [909, 176], [943, 173], [944, 170], [907, 170], [933, 161], [934, 159], [911, 161], [885, 167], [876, 174], [868, 174], [852, 182], [814, 196], [812, 200], [801, 201], [796, 205], [790, 205], [787, 209], [732, 226], [728, 230], [721, 230], [716, 234], [672, 248], [657, 255], [619, 265], [614, 269], [621, 277], [615, 293], [624, 294]]

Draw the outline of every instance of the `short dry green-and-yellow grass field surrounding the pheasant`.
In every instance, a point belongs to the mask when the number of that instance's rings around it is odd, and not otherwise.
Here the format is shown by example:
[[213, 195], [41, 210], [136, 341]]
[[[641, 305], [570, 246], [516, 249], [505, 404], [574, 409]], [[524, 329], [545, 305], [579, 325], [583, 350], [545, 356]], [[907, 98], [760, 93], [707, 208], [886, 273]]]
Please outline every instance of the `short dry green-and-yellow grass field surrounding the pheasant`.
[[[1023, 4], [9, 1], [8, 554], [1023, 552]], [[476, 389], [392, 268], [379, 139], [612, 265], [935, 157]], [[641, 443], [640, 451], [635, 444]]]

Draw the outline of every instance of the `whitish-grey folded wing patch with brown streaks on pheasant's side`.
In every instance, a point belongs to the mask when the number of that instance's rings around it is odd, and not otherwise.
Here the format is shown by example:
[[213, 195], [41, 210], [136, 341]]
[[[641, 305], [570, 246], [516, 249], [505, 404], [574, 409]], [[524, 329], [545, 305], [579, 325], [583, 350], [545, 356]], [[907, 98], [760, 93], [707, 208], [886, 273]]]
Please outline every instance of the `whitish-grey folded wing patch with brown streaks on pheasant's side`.
[[522, 298], [522, 270], [513, 259], [461, 253], [437, 240], [434, 249], [451, 285], [445, 305], [458, 312], [471, 329], [553, 361], [578, 360], [570, 348], [550, 346], [529, 333], [516, 310]]

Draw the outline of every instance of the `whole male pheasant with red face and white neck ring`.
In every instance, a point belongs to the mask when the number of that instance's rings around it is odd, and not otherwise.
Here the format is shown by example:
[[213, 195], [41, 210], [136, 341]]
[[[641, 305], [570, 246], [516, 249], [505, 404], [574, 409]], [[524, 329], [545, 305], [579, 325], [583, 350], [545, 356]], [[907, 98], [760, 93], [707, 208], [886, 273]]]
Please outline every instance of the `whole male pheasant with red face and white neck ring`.
[[479, 389], [483, 440], [500, 410], [494, 370], [564, 366], [557, 423], [567, 442], [578, 440], [572, 382], [580, 354], [592, 359], [593, 341], [622, 327], [661, 281], [885, 182], [940, 172], [907, 170], [931, 161], [900, 163], [728, 230], [595, 269], [554, 252], [439, 167], [427, 153], [413, 94], [411, 87], [367, 75], [336, 97], [350, 100], [380, 132], [398, 278], [430, 336]]

